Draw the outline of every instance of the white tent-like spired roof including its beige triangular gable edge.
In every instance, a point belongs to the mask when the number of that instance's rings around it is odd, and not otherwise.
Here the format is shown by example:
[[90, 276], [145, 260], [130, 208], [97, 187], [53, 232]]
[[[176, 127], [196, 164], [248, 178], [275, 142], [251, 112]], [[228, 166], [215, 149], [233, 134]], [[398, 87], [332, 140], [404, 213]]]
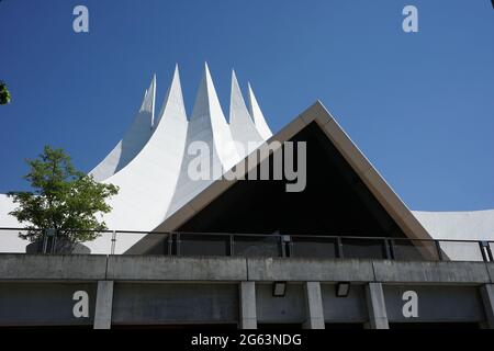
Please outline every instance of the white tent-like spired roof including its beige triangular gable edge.
[[[268, 138], [288, 140], [308, 123], [316, 122], [409, 237], [424, 238], [430, 234], [438, 239], [494, 239], [494, 210], [412, 214], [319, 102], [272, 136], [250, 84], [247, 107], [235, 72], [232, 72], [228, 124], [207, 65], [204, 65], [189, 121], [178, 67], [156, 120], [155, 99], [154, 77], [133, 125], [90, 172], [99, 181], [120, 186], [119, 194], [110, 203], [113, 211], [104, 216], [111, 229], [150, 231], [178, 227], [232, 184], [218, 179], [220, 176], [251, 151], [242, 152], [234, 143], [246, 146], [249, 141], [260, 145]], [[188, 177], [191, 158], [188, 150], [194, 141], [209, 146], [213, 167], [221, 169], [212, 179], [192, 181]], [[22, 227], [9, 215], [14, 207], [10, 199], [0, 194], [0, 227]], [[128, 235], [126, 239], [120, 239], [116, 253], [125, 252], [142, 237]], [[108, 253], [109, 242], [103, 236], [88, 246], [94, 253]], [[0, 237], [0, 251], [23, 252], [25, 245], [16, 233]]]

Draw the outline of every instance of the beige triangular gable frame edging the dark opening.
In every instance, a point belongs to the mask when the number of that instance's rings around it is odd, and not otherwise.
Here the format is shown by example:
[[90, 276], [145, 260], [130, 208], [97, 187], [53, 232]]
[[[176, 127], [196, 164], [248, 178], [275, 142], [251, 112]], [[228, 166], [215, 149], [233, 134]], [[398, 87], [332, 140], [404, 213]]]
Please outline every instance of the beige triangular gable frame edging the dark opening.
[[[317, 124], [333, 145], [335, 145], [353, 171], [360, 177], [379, 203], [384, 207], [384, 210], [408, 238], [431, 239], [427, 230], [420, 225], [405, 203], [391, 189], [383, 177], [366, 158], [362, 151], [353, 144], [350, 137], [339, 126], [321, 101], [315, 102], [311, 107], [305, 110], [266, 143], [269, 144], [271, 141], [280, 141], [280, 144], [282, 144], [283, 141], [290, 140], [293, 136], [313, 122]], [[265, 158], [266, 157], [269, 156], [265, 155]], [[262, 161], [263, 158], [259, 158], [256, 165], [246, 162], [249, 167], [246, 169], [246, 174]], [[227, 173], [231, 172], [232, 170]], [[237, 182], [237, 180], [227, 179], [232, 179], [232, 177], [224, 177], [213, 182], [203, 192], [175, 212], [173, 215], [168, 217], [154, 231], [162, 233], [177, 230], [177, 228], [187, 223], [190, 218], [192, 218], [195, 214], [206, 207], [211, 202]], [[134, 245], [126, 253], [142, 253], [155, 245], [157, 240], [159, 240], [158, 238], [159, 236], [148, 235]]]

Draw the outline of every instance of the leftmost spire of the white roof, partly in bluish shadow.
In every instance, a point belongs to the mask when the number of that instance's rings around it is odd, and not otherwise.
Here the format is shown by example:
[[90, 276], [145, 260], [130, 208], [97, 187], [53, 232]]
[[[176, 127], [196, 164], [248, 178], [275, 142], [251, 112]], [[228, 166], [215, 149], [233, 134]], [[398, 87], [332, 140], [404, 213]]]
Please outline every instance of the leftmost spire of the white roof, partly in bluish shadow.
[[153, 134], [156, 99], [156, 76], [146, 89], [143, 103], [125, 136], [110, 154], [89, 172], [96, 181], [103, 181], [131, 162], [149, 140]]

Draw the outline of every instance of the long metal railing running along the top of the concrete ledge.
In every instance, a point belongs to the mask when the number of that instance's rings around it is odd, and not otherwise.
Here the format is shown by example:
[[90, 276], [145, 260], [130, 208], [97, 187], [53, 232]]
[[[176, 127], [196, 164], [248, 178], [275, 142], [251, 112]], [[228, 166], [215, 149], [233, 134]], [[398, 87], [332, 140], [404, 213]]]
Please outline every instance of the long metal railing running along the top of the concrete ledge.
[[[19, 238], [19, 234], [25, 233], [25, 229], [0, 228], [0, 252], [494, 262], [494, 241], [489, 240], [103, 230], [93, 240], [75, 242], [68, 238], [81, 234], [77, 230], [60, 236], [54, 230], [40, 229], [37, 240], [30, 244]], [[139, 249], [135, 247], [137, 242]]]

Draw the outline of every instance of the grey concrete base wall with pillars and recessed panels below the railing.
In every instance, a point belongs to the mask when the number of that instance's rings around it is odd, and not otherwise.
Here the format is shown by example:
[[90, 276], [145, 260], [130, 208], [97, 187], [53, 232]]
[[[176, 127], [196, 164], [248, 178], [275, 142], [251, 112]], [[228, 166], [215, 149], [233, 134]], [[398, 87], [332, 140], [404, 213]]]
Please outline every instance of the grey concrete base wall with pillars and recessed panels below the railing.
[[[483, 262], [1, 254], [0, 326], [467, 321], [494, 328], [494, 294], [484, 293], [494, 291], [493, 273], [494, 263]], [[272, 296], [273, 282], [287, 282], [284, 296]], [[350, 282], [347, 297], [336, 296], [337, 282]], [[77, 291], [88, 294], [85, 317], [74, 313]], [[417, 316], [403, 313], [407, 291], [417, 294]]]

